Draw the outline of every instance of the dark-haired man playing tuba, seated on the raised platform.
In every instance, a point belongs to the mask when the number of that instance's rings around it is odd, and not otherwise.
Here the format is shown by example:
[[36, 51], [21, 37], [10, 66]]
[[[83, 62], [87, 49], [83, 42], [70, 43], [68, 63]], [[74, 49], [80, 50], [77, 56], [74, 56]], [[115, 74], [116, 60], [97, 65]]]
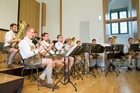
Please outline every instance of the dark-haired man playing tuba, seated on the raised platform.
[[20, 39], [14, 39], [16, 37], [15, 36], [16, 30], [17, 30], [17, 25], [15, 23], [12, 23], [10, 25], [10, 31], [6, 32], [5, 34], [5, 44], [4, 44], [3, 51], [10, 54], [8, 58], [8, 65], [7, 65], [8, 68], [13, 68], [12, 60], [16, 55], [16, 53], [18, 52], [18, 49], [12, 47], [13, 43], [20, 42]]

